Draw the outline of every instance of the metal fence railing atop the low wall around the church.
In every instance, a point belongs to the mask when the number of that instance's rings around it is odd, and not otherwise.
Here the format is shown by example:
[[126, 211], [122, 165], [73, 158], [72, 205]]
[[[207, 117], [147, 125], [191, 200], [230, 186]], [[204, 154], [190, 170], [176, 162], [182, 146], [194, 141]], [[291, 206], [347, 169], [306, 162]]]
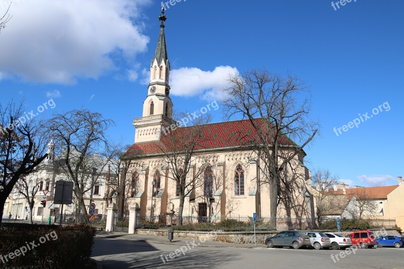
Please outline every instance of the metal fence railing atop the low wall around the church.
[[[344, 222], [352, 220], [341, 220]], [[335, 222], [327, 229], [337, 229], [336, 219], [298, 219], [298, 218], [258, 218], [256, 231], [279, 231], [279, 230], [314, 230], [321, 229], [324, 222]], [[359, 220], [368, 222], [373, 228], [394, 228], [395, 220]], [[183, 216], [182, 225], [179, 225], [177, 216], [140, 216], [139, 224], [136, 228], [160, 229], [160, 230], [187, 230], [187, 231], [223, 231], [223, 232], [244, 232], [254, 231], [254, 221], [247, 216]]]

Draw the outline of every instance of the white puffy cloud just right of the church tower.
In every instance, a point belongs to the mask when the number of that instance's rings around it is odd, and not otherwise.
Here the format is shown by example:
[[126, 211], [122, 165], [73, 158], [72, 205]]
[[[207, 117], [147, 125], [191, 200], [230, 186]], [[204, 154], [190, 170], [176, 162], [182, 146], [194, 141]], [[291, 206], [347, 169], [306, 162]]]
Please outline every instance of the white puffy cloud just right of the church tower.
[[171, 94], [177, 96], [200, 95], [203, 99], [216, 100], [224, 96], [229, 74], [237, 74], [235, 67], [219, 66], [213, 71], [198, 68], [180, 68], [171, 71]]

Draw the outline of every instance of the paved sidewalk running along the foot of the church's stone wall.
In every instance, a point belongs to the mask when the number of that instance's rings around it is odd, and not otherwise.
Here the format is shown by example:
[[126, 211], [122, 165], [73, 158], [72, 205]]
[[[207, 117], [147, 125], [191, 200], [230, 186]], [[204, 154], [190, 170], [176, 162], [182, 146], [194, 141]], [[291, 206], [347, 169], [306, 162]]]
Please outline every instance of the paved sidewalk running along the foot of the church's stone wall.
[[130, 241], [141, 241], [147, 243], [155, 243], [155, 244], [170, 244], [170, 245], [179, 245], [185, 246], [189, 242], [195, 242], [199, 247], [237, 247], [237, 248], [266, 248], [267, 246], [264, 244], [236, 244], [236, 243], [224, 243], [224, 242], [214, 242], [214, 241], [205, 241], [201, 242], [198, 239], [191, 238], [176, 238], [174, 233], [174, 240], [170, 242], [167, 237], [162, 236], [154, 236], [154, 235], [138, 235], [138, 234], [128, 234], [121, 232], [97, 232], [95, 233], [95, 237], [100, 238], [108, 238], [108, 239], [119, 239], [119, 240], [130, 240]]

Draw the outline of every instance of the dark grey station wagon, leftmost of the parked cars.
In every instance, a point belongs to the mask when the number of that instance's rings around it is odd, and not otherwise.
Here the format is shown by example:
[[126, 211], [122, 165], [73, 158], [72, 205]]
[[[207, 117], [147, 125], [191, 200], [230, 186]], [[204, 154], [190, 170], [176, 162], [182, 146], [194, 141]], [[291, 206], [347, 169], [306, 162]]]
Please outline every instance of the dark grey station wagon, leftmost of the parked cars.
[[303, 246], [311, 246], [310, 238], [303, 232], [284, 231], [265, 240], [268, 247], [293, 247], [298, 249]]

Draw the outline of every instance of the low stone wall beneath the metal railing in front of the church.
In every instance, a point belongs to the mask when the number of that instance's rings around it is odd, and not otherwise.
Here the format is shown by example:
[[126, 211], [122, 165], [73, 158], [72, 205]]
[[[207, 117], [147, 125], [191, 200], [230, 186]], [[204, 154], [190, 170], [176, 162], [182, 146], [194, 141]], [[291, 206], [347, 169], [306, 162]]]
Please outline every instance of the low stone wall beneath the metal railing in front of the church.
[[[338, 231], [316, 231], [316, 232], [330, 232], [338, 233]], [[354, 231], [340, 231], [339, 233], [343, 236], [348, 235]], [[400, 233], [394, 229], [385, 230], [373, 230], [376, 236], [378, 235], [396, 235], [401, 236]], [[138, 229], [135, 231], [136, 234], [143, 235], [156, 235], [162, 237], [168, 237], [168, 232], [164, 230], [147, 230]], [[256, 232], [257, 244], [264, 244], [265, 239], [268, 237], [276, 235], [278, 232]], [[191, 238], [203, 241], [217, 241], [226, 243], [237, 243], [237, 244], [254, 244], [254, 232], [194, 232], [194, 231], [174, 231], [174, 238]]]

